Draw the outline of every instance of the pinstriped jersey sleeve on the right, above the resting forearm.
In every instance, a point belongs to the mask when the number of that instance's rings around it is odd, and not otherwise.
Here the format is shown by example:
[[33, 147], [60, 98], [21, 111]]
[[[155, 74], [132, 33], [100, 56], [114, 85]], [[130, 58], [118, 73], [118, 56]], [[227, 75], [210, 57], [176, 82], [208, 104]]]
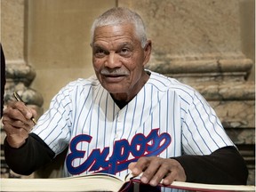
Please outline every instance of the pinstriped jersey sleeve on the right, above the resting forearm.
[[190, 94], [187, 106], [182, 122], [185, 154], [209, 155], [218, 148], [234, 146], [215, 111], [199, 92]]

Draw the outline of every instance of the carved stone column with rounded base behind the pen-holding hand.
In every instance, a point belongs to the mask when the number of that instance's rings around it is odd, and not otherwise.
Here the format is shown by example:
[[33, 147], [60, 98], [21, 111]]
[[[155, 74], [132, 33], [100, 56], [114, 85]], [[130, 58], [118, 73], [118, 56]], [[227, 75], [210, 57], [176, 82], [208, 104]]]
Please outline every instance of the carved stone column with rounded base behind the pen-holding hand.
[[[38, 116], [42, 114], [43, 98], [39, 92], [29, 88], [36, 77], [35, 70], [29, 65], [27, 55], [27, 0], [1, 0], [1, 43], [3, 44], [6, 62], [6, 84], [4, 104], [14, 100], [13, 92], [19, 92], [22, 100], [36, 108]], [[1, 125], [1, 145], [5, 133]], [[3, 148], [2, 148], [3, 149]], [[4, 163], [4, 152], [1, 150], [1, 177], [12, 177]]]

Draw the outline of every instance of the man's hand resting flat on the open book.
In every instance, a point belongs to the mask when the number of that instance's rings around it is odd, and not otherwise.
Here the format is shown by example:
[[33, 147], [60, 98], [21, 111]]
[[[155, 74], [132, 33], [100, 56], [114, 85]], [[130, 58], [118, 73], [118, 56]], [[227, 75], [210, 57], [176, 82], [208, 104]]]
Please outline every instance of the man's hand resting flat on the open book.
[[151, 186], [163, 182], [170, 185], [174, 180], [185, 181], [186, 174], [180, 163], [174, 159], [165, 159], [157, 156], [140, 157], [137, 163], [129, 164], [132, 174], [139, 175], [143, 172], [140, 180]]

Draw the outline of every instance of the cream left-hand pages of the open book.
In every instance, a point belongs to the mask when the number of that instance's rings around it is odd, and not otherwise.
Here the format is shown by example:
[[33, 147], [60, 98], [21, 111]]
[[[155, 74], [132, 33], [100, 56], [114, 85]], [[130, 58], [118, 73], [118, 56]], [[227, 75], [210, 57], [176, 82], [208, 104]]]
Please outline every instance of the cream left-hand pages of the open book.
[[118, 191], [124, 181], [107, 175], [88, 175], [60, 179], [1, 179], [1, 191]]

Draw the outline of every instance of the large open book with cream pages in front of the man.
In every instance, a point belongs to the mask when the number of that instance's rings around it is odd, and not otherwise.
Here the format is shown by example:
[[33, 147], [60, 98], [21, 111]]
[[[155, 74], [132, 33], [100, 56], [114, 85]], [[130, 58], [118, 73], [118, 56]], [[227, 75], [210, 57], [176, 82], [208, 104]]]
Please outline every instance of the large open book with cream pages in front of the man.
[[[137, 185], [137, 189], [136, 189]], [[138, 188], [139, 185], [139, 188]], [[145, 184], [141, 184], [146, 186]], [[140, 176], [128, 174], [124, 180], [107, 173], [95, 173], [58, 179], [1, 179], [1, 191], [49, 192], [49, 191], [146, 191], [140, 190]], [[133, 190], [134, 188], [134, 190]], [[152, 187], [151, 187], [152, 188]], [[174, 181], [170, 186], [159, 184], [159, 188], [180, 188], [188, 191], [255, 191], [254, 186], [212, 185]], [[147, 190], [148, 191], [148, 190]]]

